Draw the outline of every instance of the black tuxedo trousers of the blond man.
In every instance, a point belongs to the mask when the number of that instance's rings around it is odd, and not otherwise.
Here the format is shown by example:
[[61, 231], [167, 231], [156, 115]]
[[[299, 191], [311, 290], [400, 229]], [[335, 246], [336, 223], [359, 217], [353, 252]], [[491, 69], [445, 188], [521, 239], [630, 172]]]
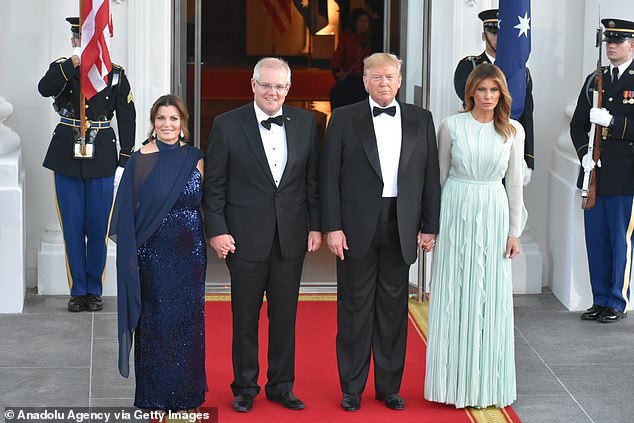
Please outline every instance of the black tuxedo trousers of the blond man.
[[337, 364], [343, 392], [363, 392], [371, 353], [376, 391], [400, 390], [407, 343], [408, 275], [396, 221], [377, 225], [365, 257], [337, 259]]

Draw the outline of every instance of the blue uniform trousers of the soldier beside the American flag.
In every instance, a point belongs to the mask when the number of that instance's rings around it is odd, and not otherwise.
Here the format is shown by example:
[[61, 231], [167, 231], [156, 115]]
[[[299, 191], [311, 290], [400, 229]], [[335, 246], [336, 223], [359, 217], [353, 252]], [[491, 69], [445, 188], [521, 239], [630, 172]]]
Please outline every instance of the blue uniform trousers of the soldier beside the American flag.
[[55, 173], [55, 195], [72, 296], [102, 294], [113, 181], [112, 176], [82, 179]]

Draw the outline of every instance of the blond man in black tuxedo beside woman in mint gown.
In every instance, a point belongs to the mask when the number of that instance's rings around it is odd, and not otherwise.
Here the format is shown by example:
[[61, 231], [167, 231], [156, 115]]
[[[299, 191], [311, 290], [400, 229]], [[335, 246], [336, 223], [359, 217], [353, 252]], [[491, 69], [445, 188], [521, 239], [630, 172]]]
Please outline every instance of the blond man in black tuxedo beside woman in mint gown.
[[402, 61], [364, 60], [368, 100], [335, 110], [321, 160], [322, 230], [337, 257], [341, 406], [361, 406], [374, 354], [376, 398], [403, 409], [410, 265], [438, 232], [440, 183], [431, 113], [395, 100]]

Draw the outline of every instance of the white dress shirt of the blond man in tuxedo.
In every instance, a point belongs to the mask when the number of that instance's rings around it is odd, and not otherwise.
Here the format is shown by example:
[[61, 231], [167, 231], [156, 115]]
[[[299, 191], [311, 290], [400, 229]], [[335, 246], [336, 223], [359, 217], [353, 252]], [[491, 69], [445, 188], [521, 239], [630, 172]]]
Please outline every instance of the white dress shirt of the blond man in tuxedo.
[[[372, 109], [381, 107], [370, 99], [370, 113]], [[396, 106], [396, 114], [390, 116], [381, 113], [373, 116], [374, 134], [376, 146], [379, 150], [379, 163], [381, 163], [381, 177], [383, 178], [383, 197], [396, 197], [398, 195], [398, 164], [401, 158], [401, 141], [403, 129], [401, 127], [401, 108], [396, 100], [392, 100], [387, 107]]]

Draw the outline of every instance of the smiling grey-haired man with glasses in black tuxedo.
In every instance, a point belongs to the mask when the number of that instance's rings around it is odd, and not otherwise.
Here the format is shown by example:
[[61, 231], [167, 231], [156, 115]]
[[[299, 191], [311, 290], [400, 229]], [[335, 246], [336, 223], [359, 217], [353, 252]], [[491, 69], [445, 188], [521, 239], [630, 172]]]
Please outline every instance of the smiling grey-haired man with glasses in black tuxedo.
[[214, 120], [205, 159], [209, 243], [226, 259], [233, 314], [233, 408], [248, 412], [259, 393], [258, 320], [266, 293], [266, 397], [299, 410], [293, 395], [295, 317], [306, 251], [321, 245], [319, 152], [313, 114], [283, 106], [291, 70], [264, 58], [253, 69], [253, 103]]

